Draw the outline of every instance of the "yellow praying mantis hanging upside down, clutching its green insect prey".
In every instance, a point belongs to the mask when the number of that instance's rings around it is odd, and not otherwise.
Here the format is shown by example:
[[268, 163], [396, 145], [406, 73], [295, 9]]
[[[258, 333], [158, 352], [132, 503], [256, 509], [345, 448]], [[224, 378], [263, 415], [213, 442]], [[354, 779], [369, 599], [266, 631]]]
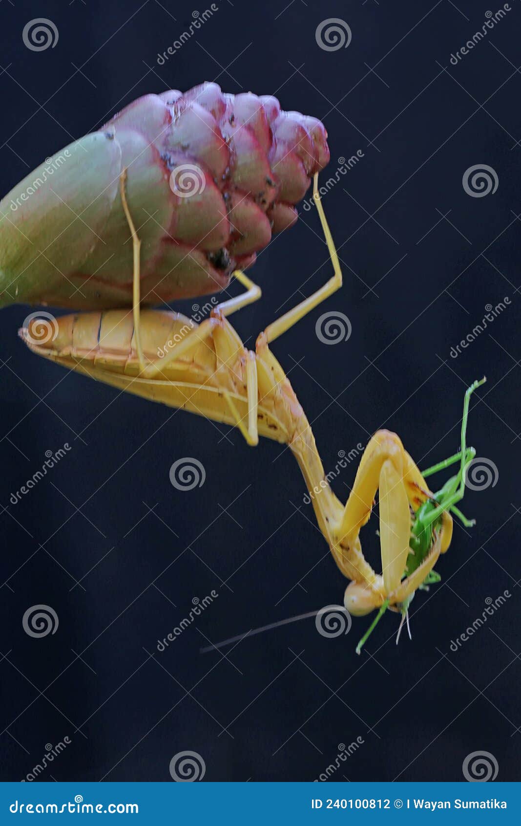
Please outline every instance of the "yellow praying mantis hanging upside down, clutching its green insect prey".
[[[408, 621], [414, 592], [438, 582], [433, 572], [439, 554], [452, 538], [452, 516], [465, 489], [465, 470], [475, 456], [466, 447], [468, 406], [481, 382], [469, 387], [463, 411], [461, 450], [422, 475], [394, 433], [378, 430], [362, 455], [345, 505], [334, 495], [324, 473], [310, 423], [269, 345], [321, 301], [342, 286], [334, 241], [314, 178], [313, 198], [333, 264], [333, 276], [312, 296], [268, 325], [255, 345], [246, 349], [228, 317], [258, 300], [260, 288], [242, 271], [234, 273], [245, 287], [238, 297], [221, 302], [196, 325], [173, 311], [140, 310], [140, 239], [126, 201], [125, 173], [121, 199], [134, 248], [132, 310], [86, 312], [61, 316], [52, 338], [39, 341], [39, 320], [20, 331], [30, 349], [65, 368], [78, 371], [121, 391], [182, 408], [211, 420], [235, 425], [249, 445], [259, 434], [287, 444], [296, 457], [311, 493], [316, 519], [334, 560], [351, 582], [344, 605], [353, 615], [377, 610], [358, 653], [381, 615], [389, 609]], [[158, 358], [158, 353], [163, 358]], [[457, 476], [433, 493], [425, 477], [453, 463]], [[372, 513], [379, 490], [381, 573], [362, 553], [359, 533]], [[314, 495], [312, 491], [320, 491]], [[400, 625], [401, 628], [401, 625]]]

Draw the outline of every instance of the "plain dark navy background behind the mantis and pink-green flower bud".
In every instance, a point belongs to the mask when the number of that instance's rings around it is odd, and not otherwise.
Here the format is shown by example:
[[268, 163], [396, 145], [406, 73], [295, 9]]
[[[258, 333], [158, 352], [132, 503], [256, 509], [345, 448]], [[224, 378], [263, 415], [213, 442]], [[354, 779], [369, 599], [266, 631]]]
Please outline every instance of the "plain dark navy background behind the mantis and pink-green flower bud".
[[[462, 510], [477, 525], [455, 527], [442, 583], [416, 596], [412, 642], [395, 646], [389, 614], [362, 657], [354, 648], [367, 619], [338, 638], [306, 619], [201, 654], [208, 640], [343, 600], [346, 582], [302, 504], [291, 453], [268, 441], [249, 449], [224, 426], [64, 373], [17, 339], [28, 309], [3, 310], [2, 779], [21, 780], [45, 744], [69, 737], [41, 780], [170, 781], [183, 751], [201, 755], [206, 780], [313, 780], [357, 738], [335, 780], [460, 780], [478, 750], [495, 756], [499, 780], [519, 780], [521, 3], [511, 0], [456, 66], [451, 54], [495, 3], [217, 6], [160, 66], [193, 3], [3, 0], [0, 192], [144, 93], [216, 79], [226, 92], [274, 93], [284, 109], [319, 116], [329, 173], [363, 153], [324, 197], [344, 286], [273, 351], [324, 467], [381, 426], [420, 467], [455, 452], [463, 393], [486, 374], [469, 440], [497, 482], [467, 493]], [[23, 45], [34, 17], [54, 21], [54, 49]], [[348, 23], [347, 49], [317, 45], [316, 27], [331, 17]], [[475, 164], [495, 170], [494, 194], [464, 191]], [[259, 255], [251, 275], [263, 300], [234, 316], [239, 335], [253, 346], [330, 272], [318, 217], [301, 211]], [[509, 306], [451, 358], [504, 297]], [[336, 346], [315, 335], [329, 310], [353, 328]], [[45, 451], [66, 442], [67, 456], [13, 506]], [[204, 465], [206, 482], [180, 492], [168, 472], [185, 456]], [[354, 472], [352, 463], [334, 482], [342, 499]], [[376, 527], [363, 537], [374, 563]], [[212, 589], [219, 597], [159, 653], [158, 638]], [[505, 605], [451, 651], [505, 590]], [[21, 624], [37, 604], [59, 616], [56, 633], [39, 639]]]

